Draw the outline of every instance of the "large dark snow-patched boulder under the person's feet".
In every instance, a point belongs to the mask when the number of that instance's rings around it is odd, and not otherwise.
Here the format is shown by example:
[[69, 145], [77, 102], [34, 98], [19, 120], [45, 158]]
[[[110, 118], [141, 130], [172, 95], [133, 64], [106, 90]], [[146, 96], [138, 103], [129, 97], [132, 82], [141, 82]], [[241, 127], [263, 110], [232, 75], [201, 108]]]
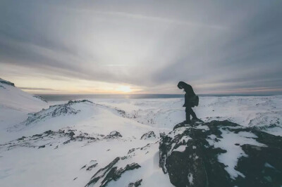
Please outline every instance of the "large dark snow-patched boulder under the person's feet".
[[282, 185], [282, 137], [228, 121], [161, 134], [159, 157], [174, 186]]

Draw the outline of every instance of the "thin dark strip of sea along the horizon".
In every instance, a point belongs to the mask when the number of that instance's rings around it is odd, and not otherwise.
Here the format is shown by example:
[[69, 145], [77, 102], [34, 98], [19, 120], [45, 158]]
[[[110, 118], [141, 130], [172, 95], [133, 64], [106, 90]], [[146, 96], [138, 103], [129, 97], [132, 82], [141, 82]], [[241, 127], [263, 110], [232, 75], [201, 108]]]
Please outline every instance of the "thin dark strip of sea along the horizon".
[[[70, 101], [70, 100], [87, 99], [87, 98], [184, 98], [184, 93], [183, 94], [37, 94], [37, 96], [42, 96], [42, 98], [46, 99], [47, 101]], [[253, 95], [199, 95], [199, 96], [253, 96]]]

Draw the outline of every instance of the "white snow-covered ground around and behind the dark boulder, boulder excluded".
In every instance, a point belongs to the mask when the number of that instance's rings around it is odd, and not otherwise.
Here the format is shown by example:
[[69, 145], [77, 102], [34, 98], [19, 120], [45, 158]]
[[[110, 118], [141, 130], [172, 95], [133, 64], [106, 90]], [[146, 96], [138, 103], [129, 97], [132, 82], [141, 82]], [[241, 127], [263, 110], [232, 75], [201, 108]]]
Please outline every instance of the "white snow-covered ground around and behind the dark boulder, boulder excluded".
[[[159, 167], [159, 133], [184, 120], [183, 99], [45, 103], [0, 85], [0, 186], [85, 186], [116, 157], [121, 158], [117, 169], [140, 167], [125, 170], [107, 186], [140, 179], [141, 186], [172, 186]], [[228, 119], [282, 135], [281, 96], [201, 97], [195, 112], [204, 121]], [[156, 137], [141, 138], [149, 131]], [[99, 186], [103, 177], [90, 186]]]

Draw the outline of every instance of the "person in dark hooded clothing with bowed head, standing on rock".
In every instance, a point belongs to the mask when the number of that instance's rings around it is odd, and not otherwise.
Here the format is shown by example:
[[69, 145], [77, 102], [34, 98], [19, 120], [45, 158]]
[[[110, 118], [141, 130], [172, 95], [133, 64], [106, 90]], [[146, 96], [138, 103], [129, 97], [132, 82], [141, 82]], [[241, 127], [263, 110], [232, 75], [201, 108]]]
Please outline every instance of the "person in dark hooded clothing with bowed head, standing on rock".
[[178, 89], [184, 89], [185, 91], [185, 103], [183, 107], [185, 107], [186, 112], [186, 123], [191, 122], [190, 115], [192, 115], [192, 120], [199, 120], [195, 112], [192, 110], [192, 107], [199, 105], [199, 97], [196, 96], [192, 86], [182, 81], [178, 82], [177, 86]]

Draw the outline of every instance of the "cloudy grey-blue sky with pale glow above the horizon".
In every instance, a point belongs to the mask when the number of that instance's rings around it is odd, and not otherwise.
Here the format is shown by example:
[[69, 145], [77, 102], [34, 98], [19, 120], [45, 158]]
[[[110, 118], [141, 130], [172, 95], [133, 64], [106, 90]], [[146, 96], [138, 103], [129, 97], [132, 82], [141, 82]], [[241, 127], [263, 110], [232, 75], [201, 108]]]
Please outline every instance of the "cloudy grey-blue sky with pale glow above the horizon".
[[45, 93], [282, 93], [282, 1], [0, 1], [0, 77]]

